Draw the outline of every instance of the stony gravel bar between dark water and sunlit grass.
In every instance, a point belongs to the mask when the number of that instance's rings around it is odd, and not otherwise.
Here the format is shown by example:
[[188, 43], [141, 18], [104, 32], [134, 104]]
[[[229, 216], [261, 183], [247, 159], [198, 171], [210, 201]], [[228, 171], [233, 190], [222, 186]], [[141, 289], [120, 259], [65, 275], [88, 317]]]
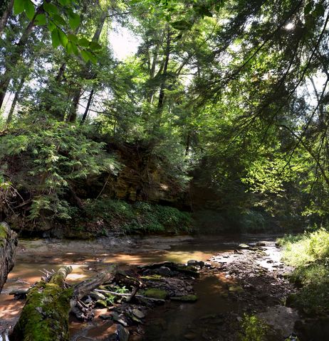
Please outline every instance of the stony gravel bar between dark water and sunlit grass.
[[[291, 268], [280, 261], [273, 243], [241, 244], [233, 252], [213, 256], [214, 273], [222, 272], [234, 283], [227, 287], [228, 299], [239, 303], [239, 311], [221, 317], [222, 328], [214, 340], [239, 340], [244, 335], [244, 317], [257, 316], [268, 328], [266, 340], [295, 340], [298, 312], [286, 307], [286, 298], [296, 291], [287, 275]], [[229, 327], [228, 327], [229, 326]]]

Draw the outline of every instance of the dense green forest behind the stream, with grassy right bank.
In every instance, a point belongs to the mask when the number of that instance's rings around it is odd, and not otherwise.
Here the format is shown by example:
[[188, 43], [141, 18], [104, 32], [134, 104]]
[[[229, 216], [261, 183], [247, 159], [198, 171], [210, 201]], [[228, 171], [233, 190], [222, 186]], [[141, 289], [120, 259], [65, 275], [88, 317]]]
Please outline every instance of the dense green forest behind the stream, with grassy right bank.
[[293, 302], [328, 313], [328, 21], [327, 0], [2, 0], [0, 222], [307, 231], [280, 240]]

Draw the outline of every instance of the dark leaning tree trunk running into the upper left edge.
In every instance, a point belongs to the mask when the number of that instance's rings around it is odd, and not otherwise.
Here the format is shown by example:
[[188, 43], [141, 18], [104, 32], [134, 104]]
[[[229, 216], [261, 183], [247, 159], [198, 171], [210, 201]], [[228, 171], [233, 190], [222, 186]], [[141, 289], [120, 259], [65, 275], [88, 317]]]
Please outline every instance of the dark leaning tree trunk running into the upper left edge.
[[6, 96], [6, 91], [11, 81], [11, 72], [12, 70], [15, 70], [17, 63], [19, 63], [19, 60], [21, 59], [21, 55], [27, 43], [28, 37], [35, 26], [36, 16], [41, 13], [43, 13], [43, 7], [39, 6], [36, 10], [36, 14], [33, 16], [33, 19], [30, 21], [30, 23], [28, 23], [28, 26], [26, 26], [26, 29], [23, 31], [23, 34], [21, 35], [21, 38], [14, 49], [14, 52], [6, 58], [5, 72], [4, 75], [1, 76], [0, 81], [0, 108], [4, 103], [4, 97]]

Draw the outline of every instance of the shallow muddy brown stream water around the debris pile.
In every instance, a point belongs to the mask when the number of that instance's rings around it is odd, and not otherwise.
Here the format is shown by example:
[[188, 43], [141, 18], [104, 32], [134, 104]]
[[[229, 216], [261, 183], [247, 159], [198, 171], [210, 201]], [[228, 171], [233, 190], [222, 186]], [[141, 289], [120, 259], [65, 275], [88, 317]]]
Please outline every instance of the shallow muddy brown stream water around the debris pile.
[[[21, 240], [16, 265], [0, 295], [0, 332], [9, 330], [19, 318], [23, 301], [17, 301], [9, 292], [17, 288], [28, 288], [42, 276], [44, 269], [51, 271], [63, 265], [73, 266], [68, 281], [75, 283], [93, 276], [109, 264], [130, 266], [160, 261], [186, 263], [189, 259], [206, 261], [212, 255], [236, 248], [240, 242], [274, 240], [275, 237], [258, 236], [211, 236], [150, 237], [150, 238], [104, 238], [95, 241]], [[73, 251], [74, 250], [74, 251]], [[204, 326], [202, 318], [239, 310], [232, 305], [225, 293], [228, 280], [224, 275], [204, 276], [196, 281], [194, 290], [199, 297], [197, 303], [166, 303], [152, 310], [147, 318], [145, 340], [187, 340], [193, 332], [201, 340]], [[89, 323], [71, 321], [71, 340], [103, 340], [113, 332], [110, 323], [96, 318]]]

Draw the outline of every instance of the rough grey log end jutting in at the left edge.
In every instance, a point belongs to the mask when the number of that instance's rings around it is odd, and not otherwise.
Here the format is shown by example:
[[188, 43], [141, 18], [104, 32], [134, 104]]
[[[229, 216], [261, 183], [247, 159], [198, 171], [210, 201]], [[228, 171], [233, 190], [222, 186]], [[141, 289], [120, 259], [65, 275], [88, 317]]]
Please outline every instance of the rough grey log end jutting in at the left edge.
[[0, 293], [7, 276], [14, 267], [17, 248], [17, 234], [6, 222], [0, 223]]

